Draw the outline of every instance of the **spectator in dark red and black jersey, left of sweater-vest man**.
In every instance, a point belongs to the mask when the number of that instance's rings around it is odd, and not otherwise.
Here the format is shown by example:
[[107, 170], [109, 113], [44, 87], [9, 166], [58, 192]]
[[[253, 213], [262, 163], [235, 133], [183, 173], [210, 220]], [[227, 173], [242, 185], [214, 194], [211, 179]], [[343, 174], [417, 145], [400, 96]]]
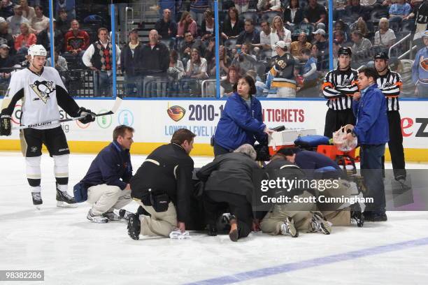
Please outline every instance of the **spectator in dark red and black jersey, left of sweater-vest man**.
[[90, 45], [90, 36], [86, 31], [80, 29], [78, 20], [71, 21], [71, 31], [67, 31], [64, 35], [65, 50], [78, 56], [87, 50]]

